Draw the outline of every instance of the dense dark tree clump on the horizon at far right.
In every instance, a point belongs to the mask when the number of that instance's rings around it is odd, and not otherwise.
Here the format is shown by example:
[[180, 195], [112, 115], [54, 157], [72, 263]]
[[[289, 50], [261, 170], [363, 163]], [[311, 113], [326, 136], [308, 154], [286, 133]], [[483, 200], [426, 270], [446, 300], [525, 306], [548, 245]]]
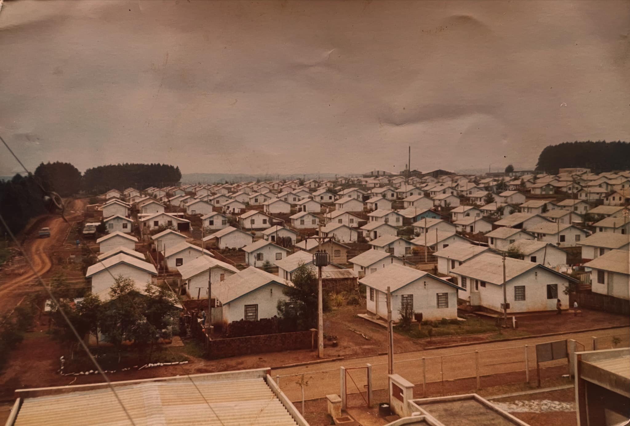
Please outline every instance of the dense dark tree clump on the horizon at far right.
[[567, 167], [587, 167], [597, 173], [630, 169], [630, 143], [587, 140], [549, 145], [538, 157], [536, 170], [557, 173]]

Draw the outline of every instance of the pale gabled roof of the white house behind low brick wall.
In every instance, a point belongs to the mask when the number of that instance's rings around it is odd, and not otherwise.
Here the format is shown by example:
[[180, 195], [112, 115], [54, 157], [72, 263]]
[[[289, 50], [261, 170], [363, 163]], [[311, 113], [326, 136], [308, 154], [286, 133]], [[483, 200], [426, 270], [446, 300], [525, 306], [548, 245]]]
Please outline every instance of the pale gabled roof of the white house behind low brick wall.
[[219, 283], [213, 284], [212, 294], [221, 301], [222, 305], [226, 305], [271, 283], [287, 287], [293, 286], [290, 281], [281, 280], [277, 275], [272, 275], [262, 269], [250, 266], [237, 274], [227, 277], [223, 281], [219, 281]]

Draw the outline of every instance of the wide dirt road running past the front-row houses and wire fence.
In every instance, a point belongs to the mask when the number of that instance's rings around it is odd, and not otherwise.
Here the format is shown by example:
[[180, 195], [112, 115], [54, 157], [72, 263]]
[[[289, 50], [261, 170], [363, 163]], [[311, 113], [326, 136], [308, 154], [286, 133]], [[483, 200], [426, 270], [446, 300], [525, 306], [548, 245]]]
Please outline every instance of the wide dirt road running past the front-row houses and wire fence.
[[[623, 334], [621, 346], [628, 345], [629, 328], [614, 328], [611, 330], [598, 330], [594, 332], [567, 333], [551, 337], [532, 337], [530, 339], [513, 340], [508, 342], [495, 342], [488, 344], [470, 345], [465, 347], [452, 347], [445, 349], [417, 350], [394, 355], [394, 373], [413, 384], [423, 383], [426, 374], [427, 383], [440, 381], [444, 374], [445, 381], [462, 378], [474, 378], [476, 366], [480, 376], [491, 374], [522, 372], [525, 381], [525, 352], [527, 352], [527, 364], [530, 371], [530, 382], [536, 382], [536, 344], [552, 342], [554, 340], [574, 339], [580, 342], [586, 350], [592, 350], [592, 337]], [[527, 349], [525, 349], [527, 345]], [[579, 347], [578, 350], [585, 350]], [[598, 347], [598, 349], [600, 349]], [[476, 351], [479, 351], [477, 354]], [[422, 358], [425, 357], [425, 368]], [[330, 393], [340, 392], [340, 368], [339, 367], [365, 367], [372, 365], [373, 386], [375, 389], [387, 387], [387, 356], [370, 356], [343, 361], [327, 362], [326, 364], [313, 364], [290, 368], [273, 369], [272, 376], [280, 376], [280, 388], [291, 401], [301, 400], [302, 393], [299, 384], [301, 374], [309, 382], [304, 388], [306, 399], [323, 398]], [[566, 359], [546, 362], [541, 368], [549, 366], [566, 366]], [[357, 393], [358, 389], [364, 391], [367, 384], [365, 369], [351, 370], [352, 379], [347, 378], [348, 393]], [[354, 381], [354, 382], [353, 382]], [[483, 386], [483, 378], [481, 379]]]

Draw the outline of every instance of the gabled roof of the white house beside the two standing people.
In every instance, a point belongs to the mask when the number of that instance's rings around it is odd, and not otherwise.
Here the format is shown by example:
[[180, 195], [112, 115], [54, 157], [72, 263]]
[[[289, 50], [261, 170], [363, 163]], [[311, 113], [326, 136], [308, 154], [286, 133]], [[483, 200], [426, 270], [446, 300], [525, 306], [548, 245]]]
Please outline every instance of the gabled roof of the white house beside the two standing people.
[[[536, 268], [545, 269], [546, 271], [561, 276], [568, 281], [576, 282], [576, 280], [570, 276], [556, 272], [551, 268], [543, 266], [542, 264], [522, 261], [521, 259], [513, 259], [512, 257], [505, 258], [505, 282], [508, 283], [525, 272]], [[503, 257], [490, 253], [482, 253], [474, 259], [455, 267], [455, 269], [452, 269], [451, 272], [479, 279], [481, 281], [485, 281], [486, 283], [501, 285], [503, 284]]]

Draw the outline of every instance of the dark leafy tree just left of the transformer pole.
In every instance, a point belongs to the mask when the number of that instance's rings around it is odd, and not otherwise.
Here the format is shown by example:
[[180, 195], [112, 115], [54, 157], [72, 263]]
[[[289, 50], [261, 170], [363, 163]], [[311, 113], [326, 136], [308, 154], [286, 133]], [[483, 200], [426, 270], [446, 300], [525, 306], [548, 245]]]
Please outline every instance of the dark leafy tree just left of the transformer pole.
[[[298, 330], [317, 328], [318, 323], [318, 279], [314, 268], [301, 264], [293, 272], [293, 286], [285, 288], [283, 293], [289, 298], [290, 306], [280, 301], [278, 316], [292, 318], [297, 322]], [[323, 298], [323, 310], [329, 310], [328, 298]]]

